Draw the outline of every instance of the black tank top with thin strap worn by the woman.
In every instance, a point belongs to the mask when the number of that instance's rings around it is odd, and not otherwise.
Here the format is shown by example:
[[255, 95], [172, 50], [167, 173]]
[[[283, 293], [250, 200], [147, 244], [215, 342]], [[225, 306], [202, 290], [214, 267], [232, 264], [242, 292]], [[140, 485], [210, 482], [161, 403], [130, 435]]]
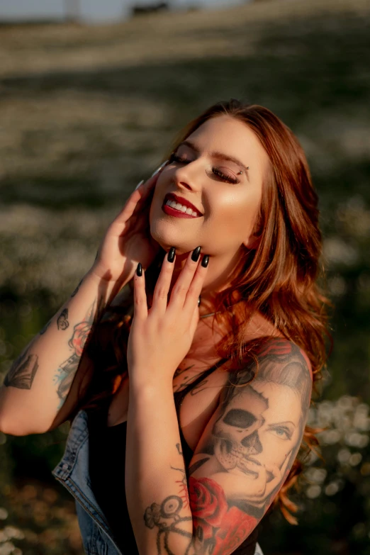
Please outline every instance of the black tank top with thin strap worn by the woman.
[[[224, 364], [225, 360], [218, 361], [208, 370], [204, 371], [196, 380], [189, 383], [183, 390], [174, 393], [177, 419], [181, 403], [191, 389], [198, 386], [215, 369]], [[116, 426], [107, 426], [109, 405], [104, 405], [99, 410], [89, 411], [89, 476], [91, 488], [97, 502], [108, 521], [117, 545], [123, 554], [139, 555], [135, 542], [133, 527], [125, 495], [125, 452], [127, 422]], [[193, 452], [179, 426], [181, 449], [184, 456], [185, 468], [189, 468]], [[257, 528], [236, 551], [235, 555], [253, 555], [257, 543]]]

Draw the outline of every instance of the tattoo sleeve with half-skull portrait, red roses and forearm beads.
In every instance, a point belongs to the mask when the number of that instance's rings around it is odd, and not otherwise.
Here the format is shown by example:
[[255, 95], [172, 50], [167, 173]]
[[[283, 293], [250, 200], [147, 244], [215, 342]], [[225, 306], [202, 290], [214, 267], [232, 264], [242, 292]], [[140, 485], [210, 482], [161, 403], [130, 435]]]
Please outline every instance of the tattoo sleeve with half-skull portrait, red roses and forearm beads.
[[308, 359], [280, 338], [262, 347], [258, 365], [252, 361], [229, 373], [189, 467], [193, 534], [189, 522], [188, 532], [181, 529], [189, 520], [182, 516], [184, 489], [145, 512], [145, 525], [157, 528], [158, 555], [179, 554], [179, 534], [189, 538], [181, 555], [230, 555], [245, 541], [296, 459], [311, 389]]

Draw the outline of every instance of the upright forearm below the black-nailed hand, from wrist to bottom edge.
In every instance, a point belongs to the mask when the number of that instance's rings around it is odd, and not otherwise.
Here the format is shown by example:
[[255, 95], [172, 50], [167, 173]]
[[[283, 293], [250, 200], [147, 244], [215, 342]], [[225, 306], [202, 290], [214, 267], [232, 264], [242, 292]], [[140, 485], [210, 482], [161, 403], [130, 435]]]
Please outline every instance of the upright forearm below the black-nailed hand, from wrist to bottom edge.
[[[129, 399], [125, 490], [139, 553], [185, 554], [192, 542], [193, 517], [172, 381], [130, 386]], [[166, 527], [167, 532], [159, 534], [159, 528]]]

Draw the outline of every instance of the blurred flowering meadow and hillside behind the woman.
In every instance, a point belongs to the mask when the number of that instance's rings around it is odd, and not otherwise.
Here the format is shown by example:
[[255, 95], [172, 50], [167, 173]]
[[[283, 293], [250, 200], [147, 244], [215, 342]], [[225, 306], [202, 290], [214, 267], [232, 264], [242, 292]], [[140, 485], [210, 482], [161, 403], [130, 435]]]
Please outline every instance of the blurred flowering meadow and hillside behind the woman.
[[[369, 0], [0, 3], [1, 381], [189, 119], [248, 99], [301, 140], [335, 344], [310, 413], [324, 461], [310, 458], [298, 527], [264, 518], [267, 555], [370, 554], [369, 17]], [[67, 432], [0, 433], [0, 555], [82, 554], [50, 473]]]

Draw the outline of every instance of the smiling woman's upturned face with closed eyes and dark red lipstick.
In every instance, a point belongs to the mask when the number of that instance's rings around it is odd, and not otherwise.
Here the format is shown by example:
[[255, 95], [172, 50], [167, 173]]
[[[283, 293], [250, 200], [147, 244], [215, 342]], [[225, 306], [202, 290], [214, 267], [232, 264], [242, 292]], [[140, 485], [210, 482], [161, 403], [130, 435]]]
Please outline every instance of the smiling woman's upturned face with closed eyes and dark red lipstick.
[[[150, 208], [152, 237], [177, 254], [200, 245], [205, 254], [231, 258], [242, 244], [253, 248], [268, 163], [245, 123], [226, 115], [207, 120], [159, 175]], [[184, 213], [187, 203], [193, 208]]]

